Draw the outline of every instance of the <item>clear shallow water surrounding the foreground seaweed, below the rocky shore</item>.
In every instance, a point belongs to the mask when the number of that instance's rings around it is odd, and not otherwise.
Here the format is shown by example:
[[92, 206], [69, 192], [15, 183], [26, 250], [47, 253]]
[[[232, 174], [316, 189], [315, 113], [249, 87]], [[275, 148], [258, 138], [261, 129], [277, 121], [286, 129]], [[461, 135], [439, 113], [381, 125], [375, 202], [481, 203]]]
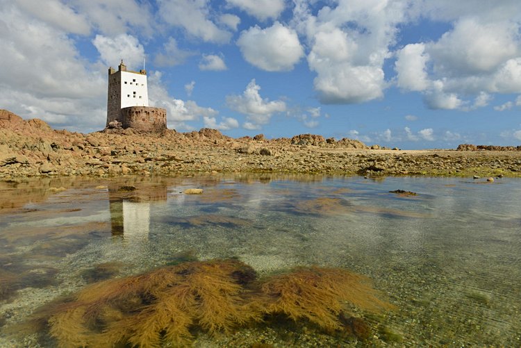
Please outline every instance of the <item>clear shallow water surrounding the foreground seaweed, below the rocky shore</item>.
[[[183, 194], [187, 188], [204, 193]], [[389, 192], [398, 189], [417, 196]], [[519, 179], [44, 179], [0, 183], [0, 196], [1, 347], [56, 345], [13, 328], [81, 289], [95, 265], [124, 276], [186, 257], [237, 257], [261, 276], [342, 267], [370, 277], [397, 306], [358, 313], [372, 325], [363, 342], [264, 326], [201, 334], [197, 347], [521, 345]]]

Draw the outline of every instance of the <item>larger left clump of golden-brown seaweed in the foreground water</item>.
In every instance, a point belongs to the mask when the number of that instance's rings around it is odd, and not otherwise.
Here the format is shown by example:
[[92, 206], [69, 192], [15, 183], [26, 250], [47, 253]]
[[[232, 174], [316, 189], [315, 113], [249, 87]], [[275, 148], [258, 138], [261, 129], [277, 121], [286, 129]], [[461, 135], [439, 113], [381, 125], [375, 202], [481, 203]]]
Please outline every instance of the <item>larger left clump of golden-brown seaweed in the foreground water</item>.
[[238, 260], [213, 260], [101, 281], [43, 310], [40, 324], [60, 347], [186, 345], [193, 327], [226, 332], [261, 319], [240, 284], [240, 274], [252, 271]]

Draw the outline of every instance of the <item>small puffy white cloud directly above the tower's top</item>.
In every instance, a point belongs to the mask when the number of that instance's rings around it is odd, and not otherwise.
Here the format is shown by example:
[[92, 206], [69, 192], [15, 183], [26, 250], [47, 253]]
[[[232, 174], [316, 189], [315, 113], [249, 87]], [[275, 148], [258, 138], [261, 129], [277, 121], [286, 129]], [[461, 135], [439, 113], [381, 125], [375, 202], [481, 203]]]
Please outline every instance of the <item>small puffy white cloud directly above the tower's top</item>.
[[128, 69], [137, 70], [143, 64], [144, 48], [132, 35], [121, 34], [115, 38], [96, 35], [92, 44], [99, 52], [101, 61], [108, 67], [115, 67], [124, 60]]

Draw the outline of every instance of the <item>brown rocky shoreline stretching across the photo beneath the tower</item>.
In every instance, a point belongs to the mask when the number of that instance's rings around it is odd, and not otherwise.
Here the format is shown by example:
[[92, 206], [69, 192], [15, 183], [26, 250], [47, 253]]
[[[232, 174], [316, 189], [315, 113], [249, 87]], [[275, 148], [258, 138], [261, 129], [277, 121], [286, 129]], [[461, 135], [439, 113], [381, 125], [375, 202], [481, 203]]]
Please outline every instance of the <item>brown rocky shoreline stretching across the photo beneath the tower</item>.
[[[500, 149], [501, 148], [501, 149]], [[214, 129], [144, 134], [53, 130], [0, 110], [0, 180], [33, 176], [292, 173], [328, 175], [521, 176], [521, 147], [399, 150], [303, 134], [230, 138]]]

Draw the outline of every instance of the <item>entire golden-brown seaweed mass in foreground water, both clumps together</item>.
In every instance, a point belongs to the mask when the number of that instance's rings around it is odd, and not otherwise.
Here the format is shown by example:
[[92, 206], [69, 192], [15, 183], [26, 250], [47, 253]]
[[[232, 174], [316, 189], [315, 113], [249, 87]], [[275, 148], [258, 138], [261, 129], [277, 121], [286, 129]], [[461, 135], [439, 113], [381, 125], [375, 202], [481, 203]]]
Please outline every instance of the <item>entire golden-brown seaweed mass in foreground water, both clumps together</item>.
[[228, 333], [270, 316], [342, 329], [346, 301], [391, 308], [364, 276], [345, 270], [299, 268], [260, 282], [239, 260], [192, 261], [94, 283], [40, 311], [37, 322], [59, 347], [177, 347], [190, 344], [198, 329]]

